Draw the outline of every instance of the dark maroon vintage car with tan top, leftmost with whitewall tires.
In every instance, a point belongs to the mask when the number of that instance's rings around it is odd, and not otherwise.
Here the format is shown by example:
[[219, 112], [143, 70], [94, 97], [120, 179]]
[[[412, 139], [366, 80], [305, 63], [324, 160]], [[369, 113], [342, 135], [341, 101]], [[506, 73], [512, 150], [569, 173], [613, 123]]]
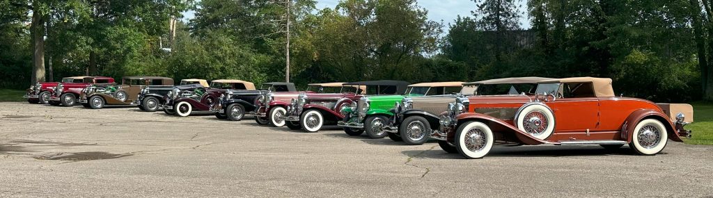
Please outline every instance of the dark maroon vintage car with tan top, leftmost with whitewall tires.
[[[209, 88], [175, 88], [164, 98], [164, 112], [185, 117], [194, 110], [205, 111], [215, 105], [218, 97], [227, 90], [255, 90], [255, 84], [244, 80], [213, 80]], [[242, 117], [241, 117], [242, 118]]]

